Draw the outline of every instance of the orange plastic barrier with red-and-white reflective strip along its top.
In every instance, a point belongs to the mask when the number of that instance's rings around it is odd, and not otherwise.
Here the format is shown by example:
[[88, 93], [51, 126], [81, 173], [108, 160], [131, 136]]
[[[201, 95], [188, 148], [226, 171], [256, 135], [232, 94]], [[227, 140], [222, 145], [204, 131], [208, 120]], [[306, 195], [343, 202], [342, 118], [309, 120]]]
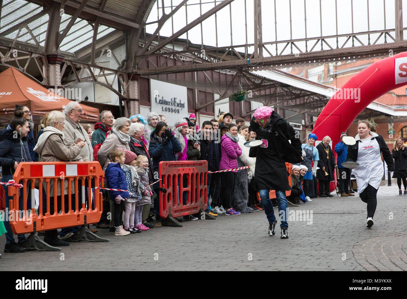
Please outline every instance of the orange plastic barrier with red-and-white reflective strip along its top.
[[[90, 223], [97, 223], [102, 215], [102, 196], [101, 192], [94, 192], [92, 203], [92, 181], [98, 183], [99, 179], [103, 181], [104, 173], [98, 162], [22, 162], [18, 164], [13, 179], [23, 185], [20, 192], [28, 194], [31, 192], [32, 207], [31, 214], [27, 213], [27, 201], [23, 201], [23, 207], [19, 207], [18, 188], [9, 186], [10, 212], [13, 211], [15, 217], [10, 220], [11, 229], [14, 234], [27, 234], [34, 231], [46, 231], [58, 229], [61, 227], [81, 226]], [[79, 179], [81, 185], [78, 186]], [[88, 185], [87, 205], [85, 205], [85, 179]], [[54, 181], [53, 191], [55, 196], [50, 198], [50, 181]], [[71, 207], [72, 201], [75, 201], [75, 210], [69, 209], [65, 213], [64, 207], [64, 181], [68, 180], [68, 201]], [[31, 181], [31, 190], [27, 190], [27, 182]], [[39, 183], [39, 207], [38, 213], [35, 212], [35, 181]], [[61, 186], [57, 186], [60, 181]], [[46, 211], [43, 213], [42, 193], [43, 182], [46, 192]], [[72, 183], [74, 184], [74, 193], [71, 194]], [[61, 188], [61, 204], [57, 204], [57, 188]], [[103, 187], [103, 186], [102, 186]], [[81, 192], [81, 202], [78, 205], [78, 191]], [[50, 211], [50, 200], [54, 201], [54, 210]], [[87, 207], [86, 207], [87, 206]], [[58, 211], [58, 207], [61, 209]], [[62, 207], [62, 208], [61, 208]], [[19, 213], [20, 211], [20, 213]], [[21, 211], [24, 211], [22, 213]], [[51, 214], [52, 212], [52, 214]], [[44, 215], [43, 215], [44, 214]]]

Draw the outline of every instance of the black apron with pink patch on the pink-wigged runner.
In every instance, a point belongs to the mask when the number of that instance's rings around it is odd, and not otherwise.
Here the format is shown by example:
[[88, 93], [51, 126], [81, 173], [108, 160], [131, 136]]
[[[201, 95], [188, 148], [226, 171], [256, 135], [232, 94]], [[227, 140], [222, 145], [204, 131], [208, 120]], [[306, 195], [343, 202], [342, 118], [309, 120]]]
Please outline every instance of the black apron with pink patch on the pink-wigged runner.
[[276, 146], [271, 138], [272, 133], [262, 130], [257, 131], [256, 140], [263, 140], [263, 144], [256, 148], [256, 169], [254, 170], [256, 188], [258, 191], [289, 191], [291, 186], [288, 183], [287, 167], [277, 153]]

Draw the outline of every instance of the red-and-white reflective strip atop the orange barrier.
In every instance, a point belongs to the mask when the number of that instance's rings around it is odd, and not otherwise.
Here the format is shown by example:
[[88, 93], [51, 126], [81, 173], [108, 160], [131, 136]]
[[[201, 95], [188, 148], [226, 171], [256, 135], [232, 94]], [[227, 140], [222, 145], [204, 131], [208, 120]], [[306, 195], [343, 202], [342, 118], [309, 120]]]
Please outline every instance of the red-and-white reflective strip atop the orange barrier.
[[31, 177], [76, 177], [79, 175], [88, 175], [88, 164], [57, 164], [57, 165], [31, 165]]

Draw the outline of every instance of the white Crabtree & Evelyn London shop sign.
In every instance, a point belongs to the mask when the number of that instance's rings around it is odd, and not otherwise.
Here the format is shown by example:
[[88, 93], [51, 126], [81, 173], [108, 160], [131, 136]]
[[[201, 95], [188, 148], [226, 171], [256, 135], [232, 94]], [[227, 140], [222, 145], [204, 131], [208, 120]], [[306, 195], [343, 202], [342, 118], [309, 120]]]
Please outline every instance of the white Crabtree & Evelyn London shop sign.
[[189, 116], [186, 87], [150, 79], [150, 94], [151, 111], [164, 115], [168, 125]]

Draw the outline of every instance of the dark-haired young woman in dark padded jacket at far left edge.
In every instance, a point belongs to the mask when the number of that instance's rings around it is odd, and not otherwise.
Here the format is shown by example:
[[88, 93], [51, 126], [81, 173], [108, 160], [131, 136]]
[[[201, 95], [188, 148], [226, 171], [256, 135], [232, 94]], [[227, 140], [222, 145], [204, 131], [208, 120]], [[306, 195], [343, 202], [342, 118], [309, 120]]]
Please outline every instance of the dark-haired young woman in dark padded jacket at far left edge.
[[[25, 106], [24, 106], [25, 107]], [[20, 162], [32, 162], [30, 152], [27, 145], [27, 134], [30, 131], [28, 122], [24, 116], [24, 111], [17, 111], [11, 120], [10, 124], [0, 131], [0, 166], [2, 167], [3, 183], [7, 183], [13, 179], [14, 170]], [[17, 132], [17, 135], [15, 135]], [[13, 199], [9, 196], [9, 187], [3, 185], [5, 192], [6, 209], [9, 209], [9, 201]], [[23, 201], [27, 200], [27, 195], [23, 194], [23, 189], [18, 188], [19, 203], [18, 206], [23, 210]], [[28, 209], [28, 206], [27, 206]], [[22, 246], [25, 241], [24, 234], [18, 235], [18, 243], [14, 242], [13, 231], [9, 221], [4, 219], [4, 226], [7, 229], [6, 244], [4, 252], [24, 252], [26, 247]]]

